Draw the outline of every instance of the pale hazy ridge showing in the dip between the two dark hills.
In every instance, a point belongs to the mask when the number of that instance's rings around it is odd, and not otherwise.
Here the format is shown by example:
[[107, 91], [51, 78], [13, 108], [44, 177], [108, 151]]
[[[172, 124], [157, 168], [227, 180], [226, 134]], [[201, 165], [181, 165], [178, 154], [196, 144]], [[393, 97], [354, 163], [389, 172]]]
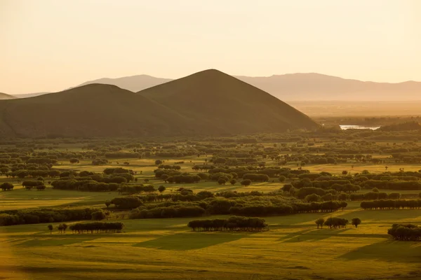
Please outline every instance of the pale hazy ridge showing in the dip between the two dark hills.
[[170, 80], [172, 79], [155, 78], [148, 75], [137, 75], [122, 78], [100, 78], [98, 80], [91, 80], [86, 83], [82, 83], [81, 85], [78, 85], [78, 87], [82, 85], [89, 85], [91, 83], [102, 83], [107, 85], [116, 85], [124, 90], [130, 90], [131, 92], [138, 92], [139, 90], [160, 85], [161, 83], [166, 83]]

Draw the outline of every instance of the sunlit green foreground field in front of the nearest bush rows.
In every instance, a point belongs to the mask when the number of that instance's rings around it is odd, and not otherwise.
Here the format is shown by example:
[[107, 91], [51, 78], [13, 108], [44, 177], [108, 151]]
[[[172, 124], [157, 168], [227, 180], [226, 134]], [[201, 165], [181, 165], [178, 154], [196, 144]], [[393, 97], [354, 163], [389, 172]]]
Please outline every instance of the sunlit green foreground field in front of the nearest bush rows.
[[[317, 230], [321, 216], [363, 224]], [[192, 232], [191, 218], [125, 220], [114, 235], [16, 225], [0, 228], [0, 269], [11, 279], [419, 279], [421, 244], [392, 241], [387, 228], [420, 218], [421, 210], [362, 211], [353, 202], [331, 215], [269, 217], [259, 233]]]

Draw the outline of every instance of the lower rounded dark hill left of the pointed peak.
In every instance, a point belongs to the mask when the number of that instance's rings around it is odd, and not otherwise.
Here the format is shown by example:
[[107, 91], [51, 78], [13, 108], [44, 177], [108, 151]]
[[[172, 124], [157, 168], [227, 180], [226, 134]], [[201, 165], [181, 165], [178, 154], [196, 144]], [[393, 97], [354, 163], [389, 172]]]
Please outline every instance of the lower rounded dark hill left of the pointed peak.
[[182, 116], [114, 85], [0, 102], [1, 137], [120, 137], [188, 132]]

